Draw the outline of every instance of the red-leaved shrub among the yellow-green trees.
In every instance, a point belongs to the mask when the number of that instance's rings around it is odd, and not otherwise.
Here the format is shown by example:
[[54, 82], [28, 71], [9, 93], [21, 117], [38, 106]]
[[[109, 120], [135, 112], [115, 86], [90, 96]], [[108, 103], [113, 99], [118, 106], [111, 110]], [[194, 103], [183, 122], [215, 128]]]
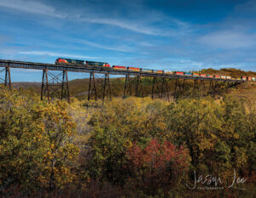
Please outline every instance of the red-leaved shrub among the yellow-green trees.
[[189, 170], [188, 150], [167, 141], [159, 144], [157, 139], [152, 139], [144, 149], [135, 143], [126, 155], [134, 176], [130, 180], [137, 188], [147, 191], [177, 184]]

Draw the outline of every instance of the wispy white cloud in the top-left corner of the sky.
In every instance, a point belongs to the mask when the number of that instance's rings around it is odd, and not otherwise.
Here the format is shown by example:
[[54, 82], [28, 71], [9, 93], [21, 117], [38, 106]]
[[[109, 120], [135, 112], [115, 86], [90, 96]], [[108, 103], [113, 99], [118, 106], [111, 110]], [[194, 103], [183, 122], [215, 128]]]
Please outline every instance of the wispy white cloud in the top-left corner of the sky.
[[65, 18], [66, 14], [57, 13], [55, 8], [38, 1], [27, 0], [1, 0], [0, 7], [12, 8], [32, 14], [44, 14], [57, 18]]

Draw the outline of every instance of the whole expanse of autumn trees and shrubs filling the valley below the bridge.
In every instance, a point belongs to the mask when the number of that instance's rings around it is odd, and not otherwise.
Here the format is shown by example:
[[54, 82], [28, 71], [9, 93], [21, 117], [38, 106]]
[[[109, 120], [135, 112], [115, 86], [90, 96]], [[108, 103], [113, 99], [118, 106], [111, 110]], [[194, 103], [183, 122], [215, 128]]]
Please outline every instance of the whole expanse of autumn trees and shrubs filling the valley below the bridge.
[[1, 90], [1, 197], [255, 195], [188, 191], [185, 185], [194, 170], [227, 184], [234, 169], [247, 178], [246, 188], [255, 184], [256, 110], [247, 100], [227, 95], [93, 103], [48, 103], [30, 91]]

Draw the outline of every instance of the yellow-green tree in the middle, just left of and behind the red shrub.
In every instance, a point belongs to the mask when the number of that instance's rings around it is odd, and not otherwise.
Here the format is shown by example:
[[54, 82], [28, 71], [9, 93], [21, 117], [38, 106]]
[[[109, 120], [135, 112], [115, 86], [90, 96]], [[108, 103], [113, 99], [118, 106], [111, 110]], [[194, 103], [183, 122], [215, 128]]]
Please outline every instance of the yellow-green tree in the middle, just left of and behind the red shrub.
[[87, 167], [92, 178], [124, 184], [129, 173], [123, 167], [126, 150], [137, 141], [147, 144], [158, 137], [166, 139], [161, 110], [166, 102], [151, 99], [113, 99], [91, 118], [94, 131], [89, 139]]

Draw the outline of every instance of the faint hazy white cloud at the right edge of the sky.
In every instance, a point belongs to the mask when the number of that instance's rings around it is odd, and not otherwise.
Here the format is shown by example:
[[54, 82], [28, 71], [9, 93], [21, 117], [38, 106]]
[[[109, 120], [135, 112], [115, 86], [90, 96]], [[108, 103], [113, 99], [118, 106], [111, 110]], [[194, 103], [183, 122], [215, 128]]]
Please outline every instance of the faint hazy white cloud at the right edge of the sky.
[[199, 39], [199, 42], [213, 48], [252, 48], [256, 47], [256, 34], [239, 31], [217, 31]]

